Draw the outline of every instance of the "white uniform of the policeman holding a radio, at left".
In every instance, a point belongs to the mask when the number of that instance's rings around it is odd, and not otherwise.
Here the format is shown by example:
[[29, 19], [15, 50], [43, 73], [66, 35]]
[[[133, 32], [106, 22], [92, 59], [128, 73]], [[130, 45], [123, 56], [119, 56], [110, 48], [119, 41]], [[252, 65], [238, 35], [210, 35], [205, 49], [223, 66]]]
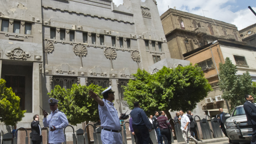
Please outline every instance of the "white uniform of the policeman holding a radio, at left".
[[49, 143], [64, 142], [64, 132], [63, 129], [68, 125], [68, 119], [64, 113], [56, 109], [54, 112], [46, 118], [43, 119], [44, 127], [55, 126], [55, 131], [49, 131]]

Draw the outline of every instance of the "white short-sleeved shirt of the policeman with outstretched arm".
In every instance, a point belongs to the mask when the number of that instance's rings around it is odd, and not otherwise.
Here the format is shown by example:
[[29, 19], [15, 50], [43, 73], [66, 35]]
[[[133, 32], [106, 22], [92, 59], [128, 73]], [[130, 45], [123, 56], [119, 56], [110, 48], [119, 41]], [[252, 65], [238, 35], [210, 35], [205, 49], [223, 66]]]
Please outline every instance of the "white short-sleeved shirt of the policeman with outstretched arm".
[[101, 127], [110, 130], [120, 130], [121, 126], [119, 123], [119, 117], [114, 103], [108, 100], [102, 99], [104, 106], [98, 106], [99, 115], [101, 121]]

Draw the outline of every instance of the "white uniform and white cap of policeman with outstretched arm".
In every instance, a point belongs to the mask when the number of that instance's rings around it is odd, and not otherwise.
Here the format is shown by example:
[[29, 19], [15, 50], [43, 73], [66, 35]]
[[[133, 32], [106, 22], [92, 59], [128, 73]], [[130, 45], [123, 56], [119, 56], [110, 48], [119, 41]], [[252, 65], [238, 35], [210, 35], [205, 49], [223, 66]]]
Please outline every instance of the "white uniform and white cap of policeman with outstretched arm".
[[[102, 92], [114, 92], [111, 90], [111, 86], [108, 87], [105, 91]], [[114, 107], [114, 103], [108, 100], [102, 99], [104, 106], [98, 106], [99, 115], [101, 121], [101, 141], [102, 144], [122, 144], [122, 136], [118, 132], [121, 129], [119, 123], [119, 117], [117, 110]]]

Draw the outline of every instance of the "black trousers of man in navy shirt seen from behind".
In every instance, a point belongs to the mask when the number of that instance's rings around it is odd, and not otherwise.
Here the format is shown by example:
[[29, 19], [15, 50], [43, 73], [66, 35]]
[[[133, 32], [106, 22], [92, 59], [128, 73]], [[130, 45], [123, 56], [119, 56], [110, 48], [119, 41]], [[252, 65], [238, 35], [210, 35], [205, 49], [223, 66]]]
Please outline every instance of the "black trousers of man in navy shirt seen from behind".
[[133, 131], [140, 144], [149, 144], [151, 139], [149, 137], [148, 127], [146, 125], [132, 125]]

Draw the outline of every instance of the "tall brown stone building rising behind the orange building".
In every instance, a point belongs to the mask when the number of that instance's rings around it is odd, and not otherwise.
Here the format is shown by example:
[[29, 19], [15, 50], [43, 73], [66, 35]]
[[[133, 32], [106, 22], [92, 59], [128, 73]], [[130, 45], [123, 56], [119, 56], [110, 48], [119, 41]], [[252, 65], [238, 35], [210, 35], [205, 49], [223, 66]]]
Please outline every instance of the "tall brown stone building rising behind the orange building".
[[161, 21], [174, 59], [184, 59], [183, 54], [219, 38], [242, 41], [235, 25], [188, 12], [169, 9]]

